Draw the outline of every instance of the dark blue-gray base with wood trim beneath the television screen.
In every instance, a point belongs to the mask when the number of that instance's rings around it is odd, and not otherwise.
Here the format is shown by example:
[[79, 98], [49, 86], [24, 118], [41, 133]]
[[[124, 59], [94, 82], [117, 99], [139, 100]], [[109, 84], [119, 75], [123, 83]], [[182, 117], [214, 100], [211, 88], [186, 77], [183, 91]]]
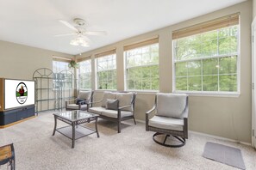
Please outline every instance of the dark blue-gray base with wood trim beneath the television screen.
[[0, 129], [34, 118], [34, 105], [0, 112]]

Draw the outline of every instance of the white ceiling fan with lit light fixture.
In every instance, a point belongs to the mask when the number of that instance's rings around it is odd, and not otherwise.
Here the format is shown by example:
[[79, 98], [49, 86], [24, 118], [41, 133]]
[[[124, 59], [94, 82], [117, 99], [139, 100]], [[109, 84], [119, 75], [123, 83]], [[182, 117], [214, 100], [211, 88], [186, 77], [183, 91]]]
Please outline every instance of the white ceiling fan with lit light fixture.
[[70, 36], [70, 35], [77, 35], [76, 39], [72, 39], [70, 44], [72, 46], [89, 46], [89, 42], [91, 41], [86, 35], [106, 35], [105, 31], [88, 31], [86, 29], [87, 23], [80, 18], [73, 19], [75, 26], [72, 26], [71, 23], [64, 20], [59, 20], [60, 23], [64, 24], [66, 27], [71, 28], [74, 33], [63, 33], [54, 35], [55, 37], [62, 37], [62, 36]]

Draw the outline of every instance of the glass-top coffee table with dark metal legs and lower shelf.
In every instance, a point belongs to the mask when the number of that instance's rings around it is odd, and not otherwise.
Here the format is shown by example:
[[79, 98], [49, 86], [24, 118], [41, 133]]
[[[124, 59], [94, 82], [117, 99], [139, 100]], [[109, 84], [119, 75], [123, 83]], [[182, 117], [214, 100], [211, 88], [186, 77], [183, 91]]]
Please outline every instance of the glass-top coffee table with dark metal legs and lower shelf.
[[[75, 140], [81, 137], [86, 137], [93, 133], [97, 133], [97, 137], [99, 137], [97, 131], [97, 114], [93, 114], [86, 111], [74, 110], [74, 111], [66, 111], [66, 112], [56, 112], [53, 113], [54, 116], [54, 129], [53, 136], [55, 135], [55, 131], [58, 131], [62, 135], [72, 139], [72, 149], [75, 147]], [[65, 122], [67, 125], [65, 127], [57, 128], [57, 119]], [[90, 123], [91, 121], [95, 121], [95, 130], [85, 127], [79, 124]]]

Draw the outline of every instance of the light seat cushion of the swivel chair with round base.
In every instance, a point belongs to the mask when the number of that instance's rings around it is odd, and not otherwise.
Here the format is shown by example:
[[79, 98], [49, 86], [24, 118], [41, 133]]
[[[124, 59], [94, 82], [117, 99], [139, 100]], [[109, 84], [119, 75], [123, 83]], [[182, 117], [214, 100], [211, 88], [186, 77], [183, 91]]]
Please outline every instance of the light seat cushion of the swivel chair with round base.
[[165, 130], [183, 131], [184, 120], [180, 118], [154, 116], [149, 119], [148, 125]]

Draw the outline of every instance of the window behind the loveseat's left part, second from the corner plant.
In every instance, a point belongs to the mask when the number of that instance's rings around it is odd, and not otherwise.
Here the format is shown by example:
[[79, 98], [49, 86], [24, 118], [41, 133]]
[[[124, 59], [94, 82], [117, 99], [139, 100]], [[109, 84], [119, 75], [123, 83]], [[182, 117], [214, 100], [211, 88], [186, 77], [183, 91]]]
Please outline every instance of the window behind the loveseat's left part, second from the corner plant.
[[97, 89], [116, 89], [116, 50], [96, 55]]

